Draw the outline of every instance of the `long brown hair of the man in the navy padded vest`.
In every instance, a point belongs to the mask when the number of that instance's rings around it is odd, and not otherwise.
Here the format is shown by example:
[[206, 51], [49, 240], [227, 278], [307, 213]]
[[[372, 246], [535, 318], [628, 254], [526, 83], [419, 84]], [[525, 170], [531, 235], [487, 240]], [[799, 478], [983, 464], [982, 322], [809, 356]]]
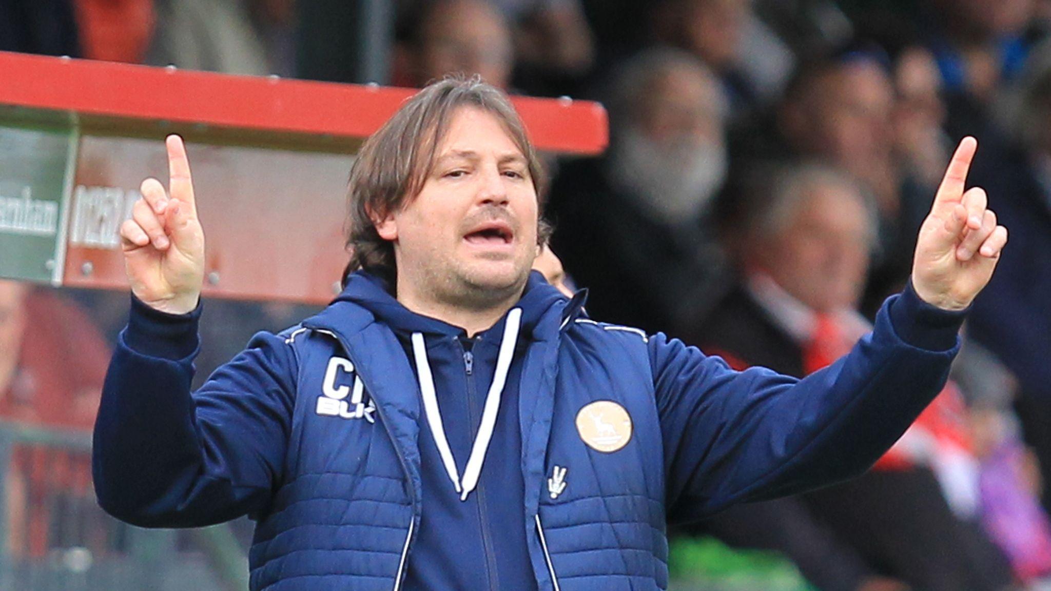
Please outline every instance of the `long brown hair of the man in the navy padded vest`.
[[[357, 269], [380, 277], [391, 288], [396, 285], [394, 245], [379, 237], [375, 221], [419, 195], [450, 120], [461, 106], [483, 109], [499, 120], [526, 157], [537, 199], [543, 195], [540, 161], [508, 96], [477, 76], [448, 76], [407, 100], [365, 141], [354, 160], [347, 190], [346, 247], [350, 262], [344, 271], [344, 286]], [[540, 211], [542, 220], [542, 200]], [[550, 226], [540, 221], [538, 230], [538, 241], [543, 244], [551, 235]]]

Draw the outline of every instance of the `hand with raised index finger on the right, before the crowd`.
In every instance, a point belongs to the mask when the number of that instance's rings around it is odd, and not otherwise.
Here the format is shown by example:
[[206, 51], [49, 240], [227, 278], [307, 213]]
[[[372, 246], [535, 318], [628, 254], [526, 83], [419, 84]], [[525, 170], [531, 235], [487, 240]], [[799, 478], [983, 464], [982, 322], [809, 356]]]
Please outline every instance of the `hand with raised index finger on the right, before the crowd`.
[[970, 305], [989, 283], [1007, 244], [1007, 228], [996, 225], [996, 215], [986, 209], [985, 190], [964, 191], [977, 145], [974, 138], [964, 138], [952, 155], [934, 205], [920, 227], [912, 261], [916, 294], [946, 310]]

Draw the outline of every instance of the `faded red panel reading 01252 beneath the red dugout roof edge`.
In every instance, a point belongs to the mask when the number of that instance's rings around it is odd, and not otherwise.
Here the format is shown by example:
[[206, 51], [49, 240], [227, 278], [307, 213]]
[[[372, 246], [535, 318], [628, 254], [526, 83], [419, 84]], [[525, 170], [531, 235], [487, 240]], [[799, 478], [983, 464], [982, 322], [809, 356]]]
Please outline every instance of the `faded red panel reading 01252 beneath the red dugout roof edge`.
[[[189, 143], [205, 229], [205, 295], [327, 302], [347, 263], [344, 196], [353, 157]], [[164, 142], [84, 136], [65, 285], [125, 288], [118, 231], [142, 179], [167, 184]]]

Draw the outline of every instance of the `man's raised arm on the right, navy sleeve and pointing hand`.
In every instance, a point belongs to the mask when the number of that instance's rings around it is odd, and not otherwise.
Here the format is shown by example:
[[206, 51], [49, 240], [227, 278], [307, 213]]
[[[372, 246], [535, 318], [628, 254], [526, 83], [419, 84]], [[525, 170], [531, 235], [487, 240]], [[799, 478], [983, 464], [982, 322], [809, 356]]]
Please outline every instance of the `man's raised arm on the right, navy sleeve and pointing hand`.
[[697, 349], [651, 340], [669, 516], [790, 494], [860, 474], [945, 384], [965, 310], [1007, 243], [964, 138], [920, 231], [910, 287], [849, 354], [803, 380], [730, 370]]

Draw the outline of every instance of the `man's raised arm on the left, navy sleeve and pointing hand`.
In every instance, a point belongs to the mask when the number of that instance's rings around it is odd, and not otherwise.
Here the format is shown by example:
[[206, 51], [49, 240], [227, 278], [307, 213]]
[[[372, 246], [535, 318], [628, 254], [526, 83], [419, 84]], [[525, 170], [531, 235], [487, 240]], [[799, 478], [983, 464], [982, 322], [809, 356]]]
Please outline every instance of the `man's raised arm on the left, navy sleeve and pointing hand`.
[[204, 283], [204, 230], [182, 138], [168, 136], [168, 190], [142, 183], [121, 226], [128, 327], [109, 364], [92, 471], [103, 509], [140, 526], [223, 522], [264, 509], [291, 423], [294, 353], [259, 334], [190, 393]]

